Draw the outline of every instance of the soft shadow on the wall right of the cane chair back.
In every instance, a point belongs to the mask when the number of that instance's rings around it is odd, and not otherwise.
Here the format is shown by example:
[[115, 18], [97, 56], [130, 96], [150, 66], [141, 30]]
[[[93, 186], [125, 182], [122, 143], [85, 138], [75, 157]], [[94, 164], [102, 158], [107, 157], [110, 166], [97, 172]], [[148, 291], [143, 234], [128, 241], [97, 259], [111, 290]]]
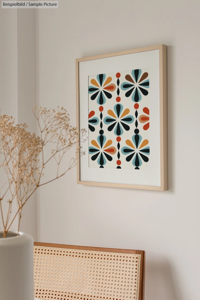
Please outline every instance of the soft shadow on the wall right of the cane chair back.
[[146, 260], [145, 277], [145, 300], [181, 300], [179, 287], [167, 260]]

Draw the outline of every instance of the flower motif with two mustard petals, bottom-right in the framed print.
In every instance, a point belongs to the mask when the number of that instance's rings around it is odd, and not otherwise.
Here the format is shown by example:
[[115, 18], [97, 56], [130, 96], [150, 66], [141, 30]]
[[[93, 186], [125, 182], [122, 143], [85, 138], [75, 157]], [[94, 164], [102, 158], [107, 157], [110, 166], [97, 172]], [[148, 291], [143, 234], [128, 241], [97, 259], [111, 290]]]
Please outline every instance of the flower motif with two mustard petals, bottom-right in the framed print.
[[[140, 167], [142, 165], [142, 160], [147, 162], [149, 159], [146, 155], [149, 155], [150, 149], [149, 146], [146, 147], [149, 143], [148, 140], [143, 140], [139, 134], [134, 134], [132, 137], [133, 143], [130, 140], [126, 140], [127, 146], [121, 149], [122, 154], [128, 155], [126, 161], [131, 161], [133, 158], [132, 164], [135, 167]], [[141, 160], [142, 159], [142, 160]]]

